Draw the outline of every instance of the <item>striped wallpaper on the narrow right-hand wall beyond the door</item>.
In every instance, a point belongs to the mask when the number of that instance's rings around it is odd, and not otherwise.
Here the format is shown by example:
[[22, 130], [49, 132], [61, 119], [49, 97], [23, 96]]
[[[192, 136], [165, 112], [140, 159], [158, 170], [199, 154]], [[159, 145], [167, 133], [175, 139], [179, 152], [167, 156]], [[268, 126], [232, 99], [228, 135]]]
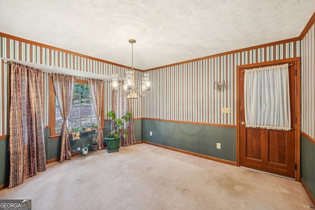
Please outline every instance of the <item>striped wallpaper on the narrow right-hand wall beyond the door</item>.
[[302, 40], [301, 130], [315, 138], [315, 24]]

